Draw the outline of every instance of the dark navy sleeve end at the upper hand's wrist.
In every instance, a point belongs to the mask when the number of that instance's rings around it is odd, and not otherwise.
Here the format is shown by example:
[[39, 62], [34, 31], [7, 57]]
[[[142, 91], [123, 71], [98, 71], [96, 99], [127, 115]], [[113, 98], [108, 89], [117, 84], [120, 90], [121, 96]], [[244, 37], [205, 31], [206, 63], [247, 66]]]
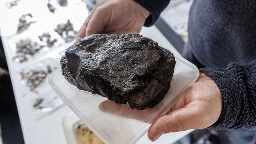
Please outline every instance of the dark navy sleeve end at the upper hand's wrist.
[[146, 19], [144, 26], [152, 26], [160, 16], [161, 12], [167, 7], [170, 0], [134, 0], [148, 11], [151, 15]]

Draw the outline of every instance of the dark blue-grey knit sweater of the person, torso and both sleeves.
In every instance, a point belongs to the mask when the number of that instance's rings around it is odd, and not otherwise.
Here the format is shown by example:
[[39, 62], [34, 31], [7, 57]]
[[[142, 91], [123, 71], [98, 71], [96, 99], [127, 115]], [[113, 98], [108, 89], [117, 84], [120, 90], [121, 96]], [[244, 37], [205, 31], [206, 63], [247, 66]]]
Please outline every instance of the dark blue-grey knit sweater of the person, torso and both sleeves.
[[[152, 13], [153, 25], [170, 0], [135, 0]], [[256, 0], [194, 0], [189, 49], [223, 97], [212, 129], [256, 128]]]

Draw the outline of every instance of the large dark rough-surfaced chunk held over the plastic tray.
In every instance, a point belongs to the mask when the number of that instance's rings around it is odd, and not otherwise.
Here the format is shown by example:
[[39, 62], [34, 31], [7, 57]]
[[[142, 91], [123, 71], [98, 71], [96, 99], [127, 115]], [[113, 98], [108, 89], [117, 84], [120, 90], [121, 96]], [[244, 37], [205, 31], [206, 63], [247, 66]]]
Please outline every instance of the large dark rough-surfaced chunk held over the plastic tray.
[[138, 110], [163, 100], [175, 64], [173, 53], [139, 34], [87, 36], [61, 58], [69, 83]]

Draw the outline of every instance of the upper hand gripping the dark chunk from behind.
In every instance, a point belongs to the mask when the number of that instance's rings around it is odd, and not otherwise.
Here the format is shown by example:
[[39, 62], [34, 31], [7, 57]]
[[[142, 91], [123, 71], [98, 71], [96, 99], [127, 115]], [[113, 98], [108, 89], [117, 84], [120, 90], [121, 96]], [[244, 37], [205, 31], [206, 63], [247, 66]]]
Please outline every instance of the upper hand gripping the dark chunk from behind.
[[133, 0], [102, 0], [91, 11], [76, 40], [91, 34], [139, 33], [150, 12]]

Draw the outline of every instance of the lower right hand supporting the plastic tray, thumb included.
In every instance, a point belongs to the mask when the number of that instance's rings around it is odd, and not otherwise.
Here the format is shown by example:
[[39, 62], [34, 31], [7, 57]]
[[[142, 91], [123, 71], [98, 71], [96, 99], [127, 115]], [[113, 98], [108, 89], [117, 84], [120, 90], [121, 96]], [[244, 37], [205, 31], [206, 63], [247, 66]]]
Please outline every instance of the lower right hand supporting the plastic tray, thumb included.
[[222, 110], [222, 97], [215, 82], [204, 73], [186, 89], [176, 104], [154, 119], [148, 138], [157, 140], [163, 133], [203, 129], [215, 123]]

